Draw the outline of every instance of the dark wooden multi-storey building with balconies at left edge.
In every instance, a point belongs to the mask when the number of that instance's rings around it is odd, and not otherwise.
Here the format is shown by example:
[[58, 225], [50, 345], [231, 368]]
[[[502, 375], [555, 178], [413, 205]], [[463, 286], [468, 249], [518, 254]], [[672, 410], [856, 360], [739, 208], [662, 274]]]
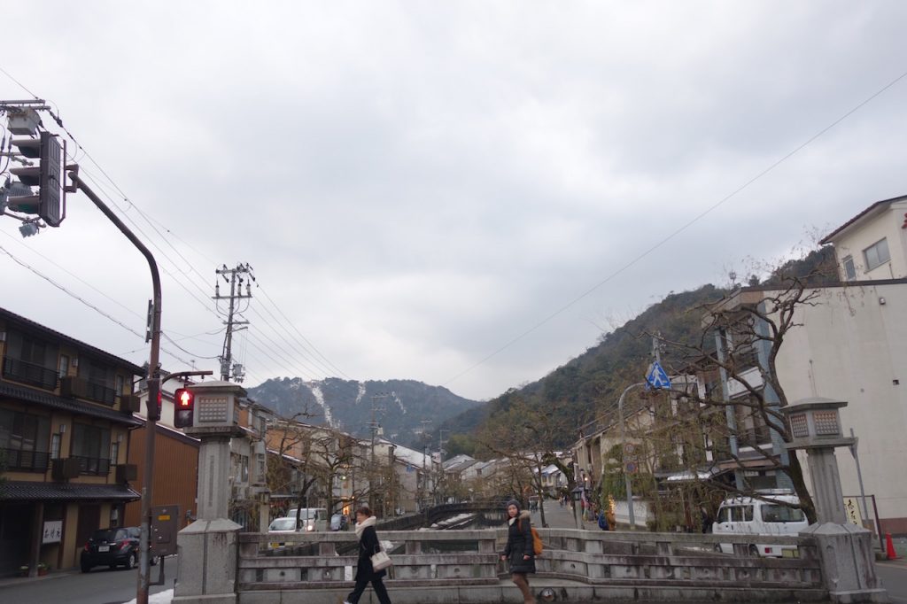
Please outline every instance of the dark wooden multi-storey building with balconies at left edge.
[[122, 526], [144, 370], [0, 308], [0, 575], [72, 568]]

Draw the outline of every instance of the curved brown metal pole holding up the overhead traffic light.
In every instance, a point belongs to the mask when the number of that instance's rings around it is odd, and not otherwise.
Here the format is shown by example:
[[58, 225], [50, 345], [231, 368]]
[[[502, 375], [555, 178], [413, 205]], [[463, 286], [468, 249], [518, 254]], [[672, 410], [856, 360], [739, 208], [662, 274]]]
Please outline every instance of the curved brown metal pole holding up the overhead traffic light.
[[148, 405], [147, 421], [145, 424], [145, 467], [141, 484], [141, 534], [139, 540], [139, 580], [136, 589], [136, 604], [148, 604], [148, 585], [151, 575], [151, 560], [149, 558], [149, 543], [151, 542], [151, 488], [153, 486], [152, 473], [154, 472], [154, 433], [158, 421], [158, 395], [161, 393], [161, 377], [158, 364], [161, 356], [161, 275], [158, 272], [158, 263], [154, 260], [151, 251], [141, 243], [139, 238], [112, 212], [110, 208], [84, 180], [79, 178], [78, 166], [66, 166], [73, 186], [81, 190], [93, 204], [102, 211], [104, 216], [122, 231], [132, 245], [139, 248], [142, 256], [148, 260], [151, 268], [151, 286], [153, 297], [151, 301], [151, 353], [148, 358]]

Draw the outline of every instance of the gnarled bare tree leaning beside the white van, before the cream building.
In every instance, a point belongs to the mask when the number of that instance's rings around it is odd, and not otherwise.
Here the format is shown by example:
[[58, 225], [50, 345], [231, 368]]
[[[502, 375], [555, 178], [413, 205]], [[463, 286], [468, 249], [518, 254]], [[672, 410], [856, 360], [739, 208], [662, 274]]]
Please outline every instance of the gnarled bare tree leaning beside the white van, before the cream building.
[[[801, 326], [802, 310], [817, 304], [820, 290], [815, 282], [814, 273], [805, 277], [788, 274], [776, 275], [766, 286], [738, 288], [716, 304], [699, 309], [703, 321], [695, 341], [663, 340], [675, 353], [672, 373], [697, 375], [700, 383], [699, 388], [675, 392], [688, 404], [683, 414], [694, 420], [688, 425], [723, 417], [725, 434], [716, 430], [714, 421], [708, 423], [713, 448], [719, 449], [718, 441], [727, 437], [723, 453], [737, 468], [745, 467], [746, 460], [738, 450], [746, 445], [776, 475], [789, 477], [799, 507], [810, 522], [816, 518], [813, 499], [796, 454], [787, 453], [784, 446], [792, 435], [781, 411], [788, 401], [778, 378], [777, 358], [785, 337]], [[716, 414], [716, 410], [723, 413]], [[761, 496], [742, 484], [732, 487], [713, 482], [728, 492]], [[771, 500], [770, 495], [763, 498]]]

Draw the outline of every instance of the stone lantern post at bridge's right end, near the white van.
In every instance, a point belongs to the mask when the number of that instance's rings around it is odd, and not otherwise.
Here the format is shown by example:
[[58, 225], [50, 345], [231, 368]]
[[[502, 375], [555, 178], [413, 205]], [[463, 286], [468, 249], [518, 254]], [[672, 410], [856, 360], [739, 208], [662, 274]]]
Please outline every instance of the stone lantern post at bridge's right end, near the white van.
[[814, 397], [781, 409], [791, 429], [787, 449], [806, 452], [818, 519], [800, 534], [816, 540], [825, 587], [833, 602], [887, 602], [888, 595], [875, 576], [872, 534], [848, 523], [844, 511], [834, 448], [854, 442], [841, 428], [839, 410], [846, 405], [846, 401]]

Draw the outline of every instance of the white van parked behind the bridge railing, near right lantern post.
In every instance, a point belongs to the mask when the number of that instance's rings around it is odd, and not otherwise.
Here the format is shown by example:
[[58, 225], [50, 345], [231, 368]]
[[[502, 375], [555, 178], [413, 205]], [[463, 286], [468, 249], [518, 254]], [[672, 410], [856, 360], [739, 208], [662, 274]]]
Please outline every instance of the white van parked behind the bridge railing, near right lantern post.
[[[766, 492], [766, 497], [775, 502], [766, 502], [755, 497], [734, 497], [721, 503], [718, 515], [712, 525], [715, 534], [734, 535], [792, 535], [803, 531], [809, 522], [803, 510], [791, 508], [782, 503], [800, 502], [792, 492]], [[763, 540], [759, 540], [763, 541]], [[770, 540], [765, 540], [770, 541]], [[731, 543], [721, 543], [721, 551], [733, 553]], [[795, 546], [751, 543], [750, 552], [763, 557], [779, 558], [785, 550], [795, 551]]]

